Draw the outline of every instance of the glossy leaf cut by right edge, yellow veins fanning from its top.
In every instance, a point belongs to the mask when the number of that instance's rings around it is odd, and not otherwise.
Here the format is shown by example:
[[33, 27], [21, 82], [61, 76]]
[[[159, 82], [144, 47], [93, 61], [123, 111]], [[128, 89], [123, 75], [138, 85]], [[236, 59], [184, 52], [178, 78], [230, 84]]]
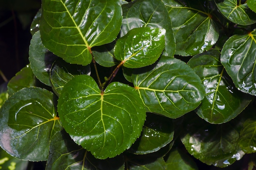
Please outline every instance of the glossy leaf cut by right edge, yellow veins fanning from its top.
[[220, 60], [236, 87], [256, 95], [256, 31], [231, 36], [223, 46]]

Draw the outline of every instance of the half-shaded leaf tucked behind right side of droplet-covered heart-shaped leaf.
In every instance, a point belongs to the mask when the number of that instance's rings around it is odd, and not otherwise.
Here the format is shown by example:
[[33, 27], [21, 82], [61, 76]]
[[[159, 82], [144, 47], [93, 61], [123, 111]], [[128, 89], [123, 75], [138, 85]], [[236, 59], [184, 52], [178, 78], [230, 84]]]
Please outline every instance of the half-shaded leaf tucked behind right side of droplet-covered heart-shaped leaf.
[[159, 150], [173, 140], [172, 119], [147, 114], [141, 136], [128, 150], [135, 154], [148, 154]]

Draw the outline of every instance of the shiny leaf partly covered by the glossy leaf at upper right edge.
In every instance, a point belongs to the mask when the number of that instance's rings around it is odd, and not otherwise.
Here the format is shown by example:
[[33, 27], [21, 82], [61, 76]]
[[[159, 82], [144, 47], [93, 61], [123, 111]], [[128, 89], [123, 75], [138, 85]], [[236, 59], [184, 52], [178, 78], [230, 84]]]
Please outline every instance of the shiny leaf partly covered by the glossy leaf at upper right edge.
[[252, 100], [252, 96], [236, 89], [220, 63], [220, 51], [212, 49], [193, 56], [188, 65], [201, 78], [206, 93], [196, 113], [209, 123], [230, 121]]

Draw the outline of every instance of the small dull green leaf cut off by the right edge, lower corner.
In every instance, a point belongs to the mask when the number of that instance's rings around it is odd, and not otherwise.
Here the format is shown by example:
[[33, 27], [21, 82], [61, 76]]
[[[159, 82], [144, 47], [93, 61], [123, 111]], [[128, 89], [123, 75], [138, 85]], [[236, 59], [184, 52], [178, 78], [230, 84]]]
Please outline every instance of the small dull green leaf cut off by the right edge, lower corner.
[[256, 152], [256, 119], [250, 118], [243, 124], [238, 141], [245, 153]]

